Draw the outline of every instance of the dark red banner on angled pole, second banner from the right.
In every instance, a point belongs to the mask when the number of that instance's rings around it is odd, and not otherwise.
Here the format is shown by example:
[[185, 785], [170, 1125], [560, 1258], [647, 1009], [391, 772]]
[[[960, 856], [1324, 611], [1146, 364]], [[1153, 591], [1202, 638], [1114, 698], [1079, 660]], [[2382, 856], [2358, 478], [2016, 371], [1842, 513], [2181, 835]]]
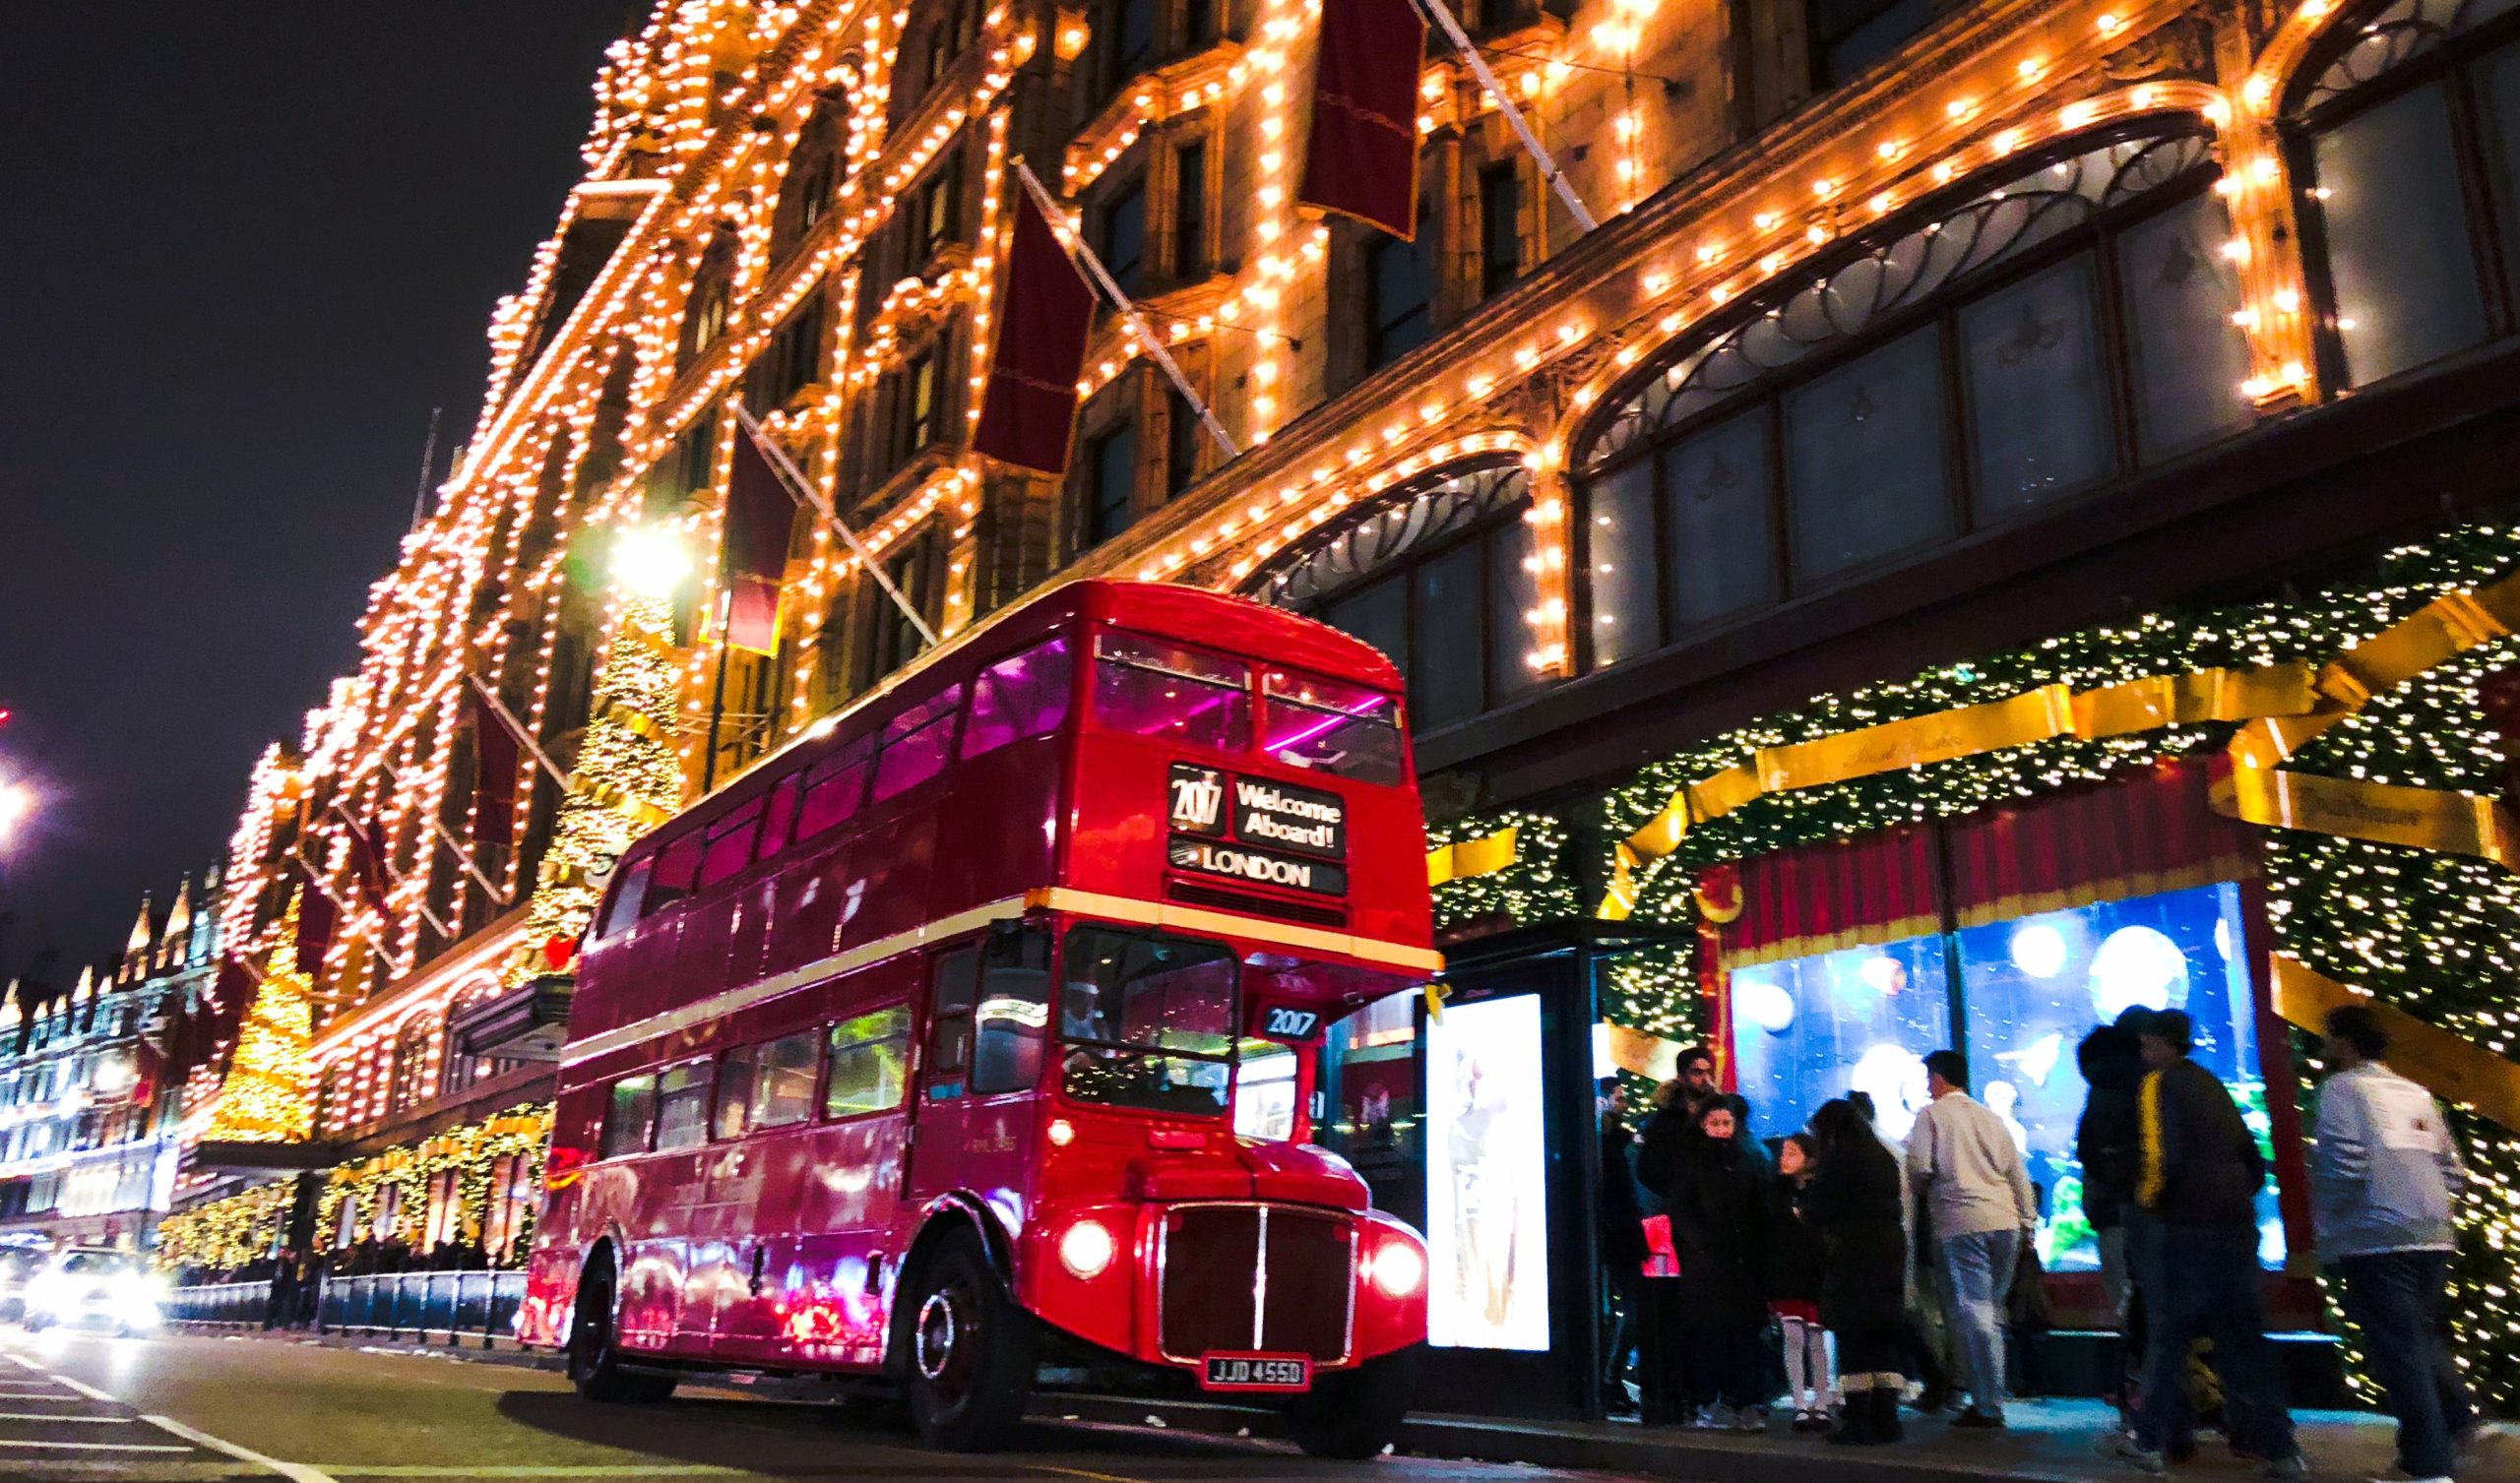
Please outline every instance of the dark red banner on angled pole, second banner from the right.
[[1068, 438], [1076, 433], [1076, 378], [1086, 370], [1091, 332], [1094, 290], [1058, 247], [1041, 201], [1018, 184], [1005, 307], [970, 446], [1023, 468], [1066, 473]]

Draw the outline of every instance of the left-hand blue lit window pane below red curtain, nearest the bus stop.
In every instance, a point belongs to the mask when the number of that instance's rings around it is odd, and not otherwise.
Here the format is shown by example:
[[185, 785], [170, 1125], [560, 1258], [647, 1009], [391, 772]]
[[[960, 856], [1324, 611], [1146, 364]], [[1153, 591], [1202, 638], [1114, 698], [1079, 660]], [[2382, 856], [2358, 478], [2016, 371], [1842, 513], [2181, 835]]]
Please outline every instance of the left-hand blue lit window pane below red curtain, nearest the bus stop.
[[1945, 942], [1908, 937], [1731, 969], [1734, 1083], [1751, 1128], [1792, 1133], [1819, 1103], [1867, 1090], [1880, 1131], [1905, 1138], [1925, 1105], [1923, 1055], [1950, 1045]]

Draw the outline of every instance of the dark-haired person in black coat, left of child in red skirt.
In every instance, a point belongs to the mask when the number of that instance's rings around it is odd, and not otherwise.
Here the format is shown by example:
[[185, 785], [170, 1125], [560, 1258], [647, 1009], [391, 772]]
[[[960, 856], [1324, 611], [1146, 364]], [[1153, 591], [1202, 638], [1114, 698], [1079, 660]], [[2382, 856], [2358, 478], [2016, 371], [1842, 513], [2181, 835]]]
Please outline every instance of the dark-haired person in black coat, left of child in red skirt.
[[1698, 1108], [1663, 1198], [1681, 1251], [1681, 1304], [1691, 1332], [1691, 1400], [1698, 1428], [1767, 1430], [1767, 1166], [1749, 1151], [1741, 1098]]

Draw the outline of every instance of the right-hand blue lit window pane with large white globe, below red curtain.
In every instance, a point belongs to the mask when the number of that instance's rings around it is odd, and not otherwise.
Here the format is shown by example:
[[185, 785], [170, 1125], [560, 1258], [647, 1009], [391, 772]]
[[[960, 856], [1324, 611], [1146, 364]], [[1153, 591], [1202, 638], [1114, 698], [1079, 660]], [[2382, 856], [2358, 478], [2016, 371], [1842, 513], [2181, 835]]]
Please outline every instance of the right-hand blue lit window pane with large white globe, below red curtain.
[[[1971, 1080], [1978, 1100], [2013, 1128], [2031, 1181], [2046, 1191], [2039, 1259], [2051, 1272], [2099, 1266], [2074, 1158], [2074, 1123], [2089, 1090], [2074, 1045], [2092, 1025], [2137, 1005], [2185, 1010], [2195, 1020], [2192, 1057], [2230, 1088], [2258, 1146], [2273, 1153], [2235, 884], [1988, 922], [1953, 942]], [[2258, 1259], [2283, 1266], [2273, 1178], [2258, 1191]]]

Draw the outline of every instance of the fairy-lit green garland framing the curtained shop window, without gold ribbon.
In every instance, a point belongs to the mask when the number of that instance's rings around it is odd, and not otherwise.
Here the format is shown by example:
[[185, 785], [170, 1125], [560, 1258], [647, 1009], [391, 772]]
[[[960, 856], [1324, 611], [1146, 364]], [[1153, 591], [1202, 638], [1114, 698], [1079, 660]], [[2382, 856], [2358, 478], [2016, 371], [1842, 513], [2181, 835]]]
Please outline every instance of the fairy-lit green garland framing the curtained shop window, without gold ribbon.
[[[2064, 682], [2076, 690], [2208, 667], [2323, 662], [2434, 597], [2520, 572], [2520, 526], [2462, 526], [2386, 551], [2366, 587], [2291, 602], [2147, 614], [2129, 624], [2059, 634], [1920, 675], [1819, 697], [1663, 758], [1603, 801], [1610, 838], [1653, 818], [1676, 788], [1744, 760], [1756, 748], [1933, 715]], [[2318, 735], [2286, 768], [2334, 778], [2502, 791], [2502, 738], [2477, 708], [2485, 675], [2520, 662], [2520, 640], [2497, 640], [2389, 690]], [[2180, 725], [2119, 738], [2059, 738], [1895, 773], [1759, 796], [1696, 823], [1638, 874], [1641, 916], [1698, 922], [1691, 884], [1701, 866], [1794, 846], [1958, 818], [2160, 758], [2218, 750], [2233, 725]], [[2520, 876], [2467, 856], [2283, 828], [2263, 831], [2276, 947], [2341, 982], [2497, 1055], [2520, 1057]], [[1610, 969], [1610, 1017], [1673, 1037], [1704, 1032], [1693, 944], [1625, 954]], [[2313, 1045], [2298, 1037], [2313, 1068]], [[2316, 1085], [2306, 1085], [2316, 1098]], [[2520, 1136], [2452, 1110], [2472, 1188], [2460, 1211], [2452, 1322], [2454, 1355], [2480, 1397], [2520, 1410]], [[2369, 1392], [2359, 1375], [2356, 1385]]]

